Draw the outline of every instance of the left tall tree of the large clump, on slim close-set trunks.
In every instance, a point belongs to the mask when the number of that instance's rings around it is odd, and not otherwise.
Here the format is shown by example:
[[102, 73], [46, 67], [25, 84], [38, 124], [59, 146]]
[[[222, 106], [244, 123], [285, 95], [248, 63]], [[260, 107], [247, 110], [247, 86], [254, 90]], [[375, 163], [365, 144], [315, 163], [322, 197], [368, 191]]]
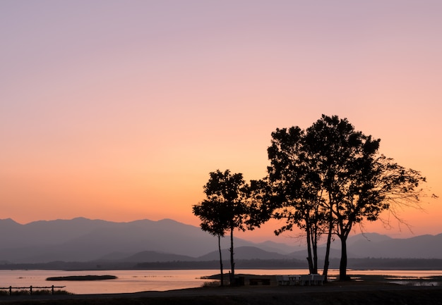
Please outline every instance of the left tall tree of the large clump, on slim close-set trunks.
[[273, 217], [285, 218], [286, 224], [275, 233], [292, 230], [293, 226], [304, 230], [307, 242], [307, 261], [310, 273], [318, 273], [318, 237], [323, 232], [323, 185], [316, 160], [305, 151], [304, 131], [299, 127], [277, 129], [272, 133], [272, 145], [268, 148], [268, 181], [275, 194], [270, 205]]

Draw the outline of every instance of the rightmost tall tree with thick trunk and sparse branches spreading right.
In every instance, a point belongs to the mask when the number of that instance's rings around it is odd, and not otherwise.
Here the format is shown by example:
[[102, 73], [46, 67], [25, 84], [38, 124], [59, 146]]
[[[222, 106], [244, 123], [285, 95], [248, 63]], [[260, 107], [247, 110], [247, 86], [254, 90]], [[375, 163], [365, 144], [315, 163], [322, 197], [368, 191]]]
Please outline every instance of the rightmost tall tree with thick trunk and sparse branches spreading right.
[[316, 158], [330, 225], [341, 241], [341, 280], [347, 279], [347, 237], [354, 224], [377, 220], [398, 205], [415, 206], [425, 182], [416, 170], [380, 155], [380, 141], [338, 116], [322, 116], [306, 130], [306, 150]]

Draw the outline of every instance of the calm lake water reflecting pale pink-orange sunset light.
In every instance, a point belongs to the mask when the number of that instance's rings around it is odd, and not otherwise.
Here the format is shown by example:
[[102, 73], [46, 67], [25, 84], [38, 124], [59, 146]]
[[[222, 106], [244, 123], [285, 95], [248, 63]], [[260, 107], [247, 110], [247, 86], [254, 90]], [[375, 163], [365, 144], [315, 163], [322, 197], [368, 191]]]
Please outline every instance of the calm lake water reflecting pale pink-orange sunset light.
[[[165, 291], [182, 288], [201, 287], [202, 276], [214, 275], [220, 270], [100, 270], [100, 271], [65, 271], [65, 270], [0, 270], [0, 287], [47, 287], [66, 286], [64, 290], [75, 294], [103, 294], [141, 291]], [[235, 273], [258, 275], [307, 274], [306, 269], [268, 270], [247, 269], [235, 270]], [[442, 270], [349, 270], [349, 275], [393, 275], [397, 277], [426, 278], [431, 275], [442, 276]], [[330, 275], [338, 270], [330, 270]], [[117, 280], [98, 281], [47, 281], [52, 276], [68, 275], [116, 275]]]

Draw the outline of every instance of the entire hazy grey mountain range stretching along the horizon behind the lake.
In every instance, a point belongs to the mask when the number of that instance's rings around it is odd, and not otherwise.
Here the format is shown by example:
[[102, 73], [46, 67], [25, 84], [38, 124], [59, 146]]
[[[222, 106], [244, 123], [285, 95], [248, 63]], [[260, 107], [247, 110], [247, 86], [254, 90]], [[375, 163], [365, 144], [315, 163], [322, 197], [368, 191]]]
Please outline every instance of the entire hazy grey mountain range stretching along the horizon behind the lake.
[[[136, 220], [114, 223], [74, 218], [36, 221], [21, 225], [0, 220], [2, 263], [47, 263], [50, 261], [215, 261], [217, 238], [201, 228], [175, 220]], [[234, 239], [235, 259], [300, 259], [302, 244], [254, 243]], [[229, 256], [229, 240], [222, 240], [223, 256]], [[324, 247], [319, 248], [323, 258]], [[395, 239], [367, 233], [347, 241], [349, 258], [442, 259], [442, 234]], [[340, 243], [332, 244], [331, 258], [340, 257]]]

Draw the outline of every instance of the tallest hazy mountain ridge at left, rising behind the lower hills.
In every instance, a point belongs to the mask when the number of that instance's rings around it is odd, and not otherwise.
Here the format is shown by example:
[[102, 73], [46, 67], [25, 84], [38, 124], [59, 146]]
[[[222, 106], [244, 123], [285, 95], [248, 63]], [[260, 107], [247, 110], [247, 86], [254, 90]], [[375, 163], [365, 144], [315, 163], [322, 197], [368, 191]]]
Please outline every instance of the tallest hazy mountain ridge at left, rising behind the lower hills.
[[[91, 261], [118, 252], [130, 256], [141, 251], [198, 257], [217, 249], [216, 237], [170, 219], [113, 223], [74, 218], [26, 225], [6, 219], [0, 220], [0, 230], [8, 232], [0, 235], [0, 259], [11, 263]], [[223, 239], [222, 244], [227, 248], [229, 240]], [[253, 245], [235, 238], [237, 247]]]

